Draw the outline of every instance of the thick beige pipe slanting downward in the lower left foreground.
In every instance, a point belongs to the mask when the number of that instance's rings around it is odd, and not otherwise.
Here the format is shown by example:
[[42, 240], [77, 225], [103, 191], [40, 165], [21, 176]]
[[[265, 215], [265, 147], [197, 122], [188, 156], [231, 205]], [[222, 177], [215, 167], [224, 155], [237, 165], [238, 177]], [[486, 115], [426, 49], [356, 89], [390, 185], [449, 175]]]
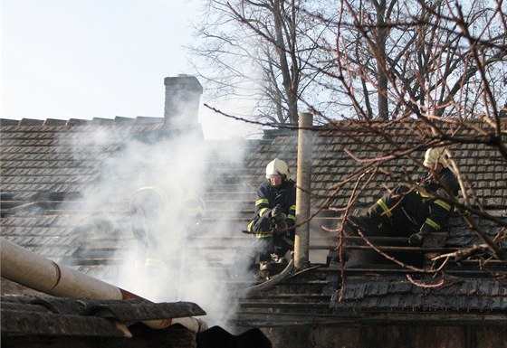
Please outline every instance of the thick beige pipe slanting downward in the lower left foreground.
[[[2, 248], [1, 276], [15, 283], [53, 296], [148, 301], [120, 287], [87, 276], [72, 268], [58, 265], [53, 260], [45, 259], [9, 240], [4, 238], [0, 240]], [[190, 316], [148, 320], [143, 323], [156, 329], [163, 329], [172, 324], [182, 324], [195, 333], [207, 329], [205, 322]]]

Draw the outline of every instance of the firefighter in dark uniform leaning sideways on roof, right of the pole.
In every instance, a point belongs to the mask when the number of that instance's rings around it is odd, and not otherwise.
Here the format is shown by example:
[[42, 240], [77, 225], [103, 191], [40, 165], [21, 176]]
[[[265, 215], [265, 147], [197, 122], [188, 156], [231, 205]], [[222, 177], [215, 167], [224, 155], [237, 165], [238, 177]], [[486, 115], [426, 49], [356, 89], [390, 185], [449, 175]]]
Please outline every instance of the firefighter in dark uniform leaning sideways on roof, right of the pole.
[[410, 246], [418, 247], [432, 232], [445, 230], [454, 209], [448, 199], [457, 195], [459, 184], [447, 168], [445, 148], [427, 149], [424, 165], [428, 174], [418, 189], [398, 185], [368, 211], [349, 216], [345, 232], [353, 235], [359, 229], [366, 236], [407, 237]]

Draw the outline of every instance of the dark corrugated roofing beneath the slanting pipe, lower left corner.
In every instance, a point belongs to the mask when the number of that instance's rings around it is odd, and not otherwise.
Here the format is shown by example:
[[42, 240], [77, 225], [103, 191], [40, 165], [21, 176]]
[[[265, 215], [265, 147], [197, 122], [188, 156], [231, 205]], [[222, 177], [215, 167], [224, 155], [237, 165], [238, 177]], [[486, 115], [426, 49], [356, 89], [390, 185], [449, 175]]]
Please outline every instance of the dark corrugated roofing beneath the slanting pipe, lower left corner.
[[129, 337], [128, 325], [206, 315], [189, 302], [2, 296], [2, 342], [13, 336]]

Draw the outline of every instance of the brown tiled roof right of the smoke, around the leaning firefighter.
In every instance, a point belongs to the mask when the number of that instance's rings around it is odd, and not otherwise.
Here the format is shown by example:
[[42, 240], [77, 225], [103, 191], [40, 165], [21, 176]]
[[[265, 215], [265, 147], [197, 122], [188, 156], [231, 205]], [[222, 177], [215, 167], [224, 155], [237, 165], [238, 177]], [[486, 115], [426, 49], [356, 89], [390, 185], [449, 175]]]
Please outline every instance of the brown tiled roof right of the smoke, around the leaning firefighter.
[[[507, 144], [507, 129], [505, 128], [507, 124], [504, 122], [502, 125], [501, 138], [505, 145]], [[387, 158], [385, 161], [375, 163], [380, 163], [382, 170], [378, 171], [371, 183], [360, 193], [358, 201], [355, 202], [356, 207], [369, 206], [376, 202], [387, 188], [394, 188], [397, 185], [397, 178], [389, 173], [401, 174], [403, 169], [413, 180], [416, 180], [419, 175], [424, 174], [421, 173], [420, 165], [416, 161], [424, 158], [426, 147], [408, 152], [409, 156], [400, 154], [407, 153], [407, 150], [416, 148], [427, 140], [429, 135], [424, 126], [416, 120], [400, 124], [374, 122], [373, 125], [343, 121], [332, 127], [315, 130], [312, 145], [312, 209], [317, 210], [327, 199], [330, 201], [326, 204], [329, 204], [331, 208], [345, 207], [355, 184], [354, 181], [347, 182], [347, 180], [351, 174], [359, 173], [371, 164], [371, 162], [362, 161], [365, 159]], [[506, 221], [507, 159], [497, 146], [474, 141], [474, 138], [480, 140], [483, 136], [477, 130], [484, 127], [482, 120], [470, 120], [469, 124], [462, 127], [454, 127], [445, 122], [439, 126], [448, 134], [465, 139], [462, 144], [451, 146], [454, 161], [461, 174], [470, 181], [477, 202], [482, 204], [483, 209], [493, 217]], [[285, 130], [284, 133], [287, 131]], [[257, 148], [257, 152], [251, 156], [249, 166], [254, 169], [259, 180], [263, 177], [265, 164], [273, 157], [286, 160], [290, 168], [296, 167], [297, 141], [295, 133], [292, 136], [274, 136], [272, 144]], [[394, 156], [390, 157], [390, 155]], [[292, 178], [295, 179], [293, 172]], [[337, 190], [337, 188], [340, 189]], [[337, 213], [334, 216], [339, 215]], [[497, 222], [476, 215], [474, 219], [481, 226], [484, 235], [492, 239], [498, 236], [501, 228]], [[455, 214], [450, 221], [445, 246], [472, 247], [481, 243], [483, 240], [477, 233], [462, 217]], [[507, 248], [505, 240], [501, 245]], [[502, 275], [505, 274], [507, 265], [504, 262], [500, 264], [503, 266], [497, 274]], [[358, 277], [357, 283], [346, 278], [343, 297], [339, 301], [340, 290], [337, 290], [331, 299], [330, 308], [336, 315], [347, 315], [350, 311], [354, 311], [356, 314], [378, 312], [389, 317], [396, 316], [394, 312], [397, 311], [435, 313], [438, 310], [447, 313], [454, 312], [454, 314], [458, 313], [456, 311], [473, 311], [474, 313], [496, 311], [497, 314], [505, 311], [506, 290], [502, 281], [476, 278], [478, 275], [483, 277], [480, 275], [481, 271], [477, 264], [472, 265], [472, 268], [470, 265], [462, 266], [463, 268], [458, 267], [453, 270], [464, 277], [462, 281], [452, 286], [445, 281], [445, 287], [433, 288], [416, 286], [407, 280], [403, 273], [401, 276], [389, 277], [391, 274], [389, 269], [377, 269], [375, 265], [369, 268], [365, 266], [359, 271], [365, 276]], [[477, 272], [467, 273], [466, 269], [474, 269]], [[340, 269], [336, 272], [340, 274]], [[354, 273], [353, 270], [352, 273]], [[485, 274], [487, 273], [486, 271]], [[341, 285], [339, 281], [337, 287]], [[272, 296], [276, 295], [272, 294]], [[432, 318], [435, 321], [443, 319], [438, 315]], [[456, 320], [459, 321], [459, 318]], [[502, 320], [504, 321], [505, 318]], [[379, 318], [378, 322], [381, 323], [382, 318]]]

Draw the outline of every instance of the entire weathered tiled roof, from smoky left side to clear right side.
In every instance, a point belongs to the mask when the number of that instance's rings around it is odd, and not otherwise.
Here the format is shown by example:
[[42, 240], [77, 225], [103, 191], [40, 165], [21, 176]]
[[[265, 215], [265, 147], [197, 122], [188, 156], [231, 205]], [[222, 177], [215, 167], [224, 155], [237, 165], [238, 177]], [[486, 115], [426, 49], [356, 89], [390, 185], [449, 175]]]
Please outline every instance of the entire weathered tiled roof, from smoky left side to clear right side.
[[[375, 172], [371, 182], [360, 192], [358, 206], [374, 202], [387, 187], [397, 183], [400, 173], [406, 179], [421, 174], [417, 161], [425, 148], [413, 150], [411, 146], [426, 140], [424, 125], [408, 120], [373, 126], [343, 121], [315, 132], [311, 182], [312, 212], [319, 211], [311, 222], [311, 251], [315, 254], [327, 254], [336, 248], [336, 234], [323, 231], [321, 226], [334, 229], [340, 222], [340, 213], [333, 208], [343, 208], [348, 204], [354, 187], [354, 182], [350, 181], [351, 174], [373, 170], [371, 162], [365, 159], [380, 158], [382, 170]], [[483, 136], [474, 126], [474, 121], [457, 128], [446, 123], [442, 126], [453, 136]], [[240, 260], [247, 259], [245, 253], [253, 245], [253, 239], [241, 230], [245, 229], [253, 215], [255, 191], [264, 180], [264, 167], [275, 156], [286, 160], [292, 173], [296, 167], [296, 137], [276, 136], [276, 132], [269, 139], [231, 144], [195, 137], [188, 142], [178, 137], [180, 133], [167, 133], [167, 129], [161, 128], [161, 121], [151, 118], [36, 125], [27, 121], [13, 124], [3, 120], [1, 127], [2, 236], [91, 276], [106, 279], [121, 273], [120, 268], [129, 260], [133, 249], [131, 242], [135, 236], [129, 208], [131, 194], [147, 184], [166, 185], [164, 188], [168, 188], [167, 178], [176, 177], [178, 183], [183, 183], [182, 187], [195, 189], [206, 201], [206, 217], [198, 228], [180, 232], [190, 237], [185, 247], [185, 259], [192, 267], [187, 269], [185, 282], [194, 285], [198, 280], [204, 280], [206, 273], [213, 269], [216, 279], [225, 277], [233, 288], [244, 287], [248, 284], [242, 276], [245, 269], [234, 267], [238, 267]], [[501, 138], [505, 144], [505, 129]], [[476, 202], [481, 202], [482, 207], [493, 216], [505, 220], [506, 161], [494, 144], [484, 144], [485, 141], [469, 141], [453, 146], [454, 160], [464, 176], [470, 179]], [[296, 177], [295, 174], [293, 176]], [[498, 232], [498, 223], [479, 218], [477, 221], [487, 235], [493, 237]], [[461, 218], [454, 217], [444, 246], [463, 247], [477, 242], [481, 240], [474, 231], [466, 227]], [[198, 263], [203, 259], [206, 259], [206, 266]], [[324, 298], [322, 302], [331, 303], [334, 311], [347, 311], [350, 303], [365, 301], [359, 295], [351, 295], [361, 291], [362, 286], [357, 285], [346, 287], [347, 301], [344, 303], [331, 302], [330, 296], [341, 286], [341, 275], [340, 269], [326, 266], [329, 268], [309, 272], [313, 275], [311, 277], [325, 275], [319, 280], [322, 287], [306, 287], [319, 292], [318, 296], [308, 294], [309, 298]], [[367, 275], [363, 278], [367, 282], [364, 284], [381, 284], [378, 279], [368, 276], [368, 271], [373, 268], [375, 265], [361, 274], [361, 277]], [[478, 287], [486, 287], [483, 282], [491, 282], [489, 287], [496, 288], [493, 285], [496, 280], [492, 282], [488, 279], [486, 272], [479, 273], [469, 276], [487, 279], [481, 280]], [[391, 276], [396, 272], [387, 269], [385, 274]], [[426, 302], [425, 306], [416, 305], [414, 294], [417, 290], [407, 283], [406, 274], [397, 279], [401, 279], [400, 284], [407, 288], [405, 298], [411, 304], [408, 306], [417, 310], [430, 309], [430, 306], [425, 307]], [[297, 283], [297, 279], [292, 281]], [[305, 286], [314, 285], [314, 281], [315, 278], [308, 280]], [[291, 284], [289, 281], [281, 287], [301, 291], [301, 287]], [[460, 284], [462, 288], [471, 287], [468, 281]], [[466, 294], [472, 296], [473, 292]], [[455, 304], [445, 302], [442, 295], [444, 292], [435, 292], [435, 298], [439, 300], [435, 300], [432, 308], [445, 306], [452, 310]], [[395, 304], [397, 296], [400, 296], [399, 292], [387, 291], [379, 293], [378, 298]], [[363, 309], [378, 308], [377, 303], [368, 301], [366, 305], [361, 305]], [[400, 303], [393, 306], [400, 306]], [[484, 306], [482, 310], [506, 306], [494, 301], [481, 304]], [[311, 302], [307, 301], [308, 306]], [[379, 310], [390, 311], [385, 306]], [[207, 308], [206, 312], [210, 313]]]

